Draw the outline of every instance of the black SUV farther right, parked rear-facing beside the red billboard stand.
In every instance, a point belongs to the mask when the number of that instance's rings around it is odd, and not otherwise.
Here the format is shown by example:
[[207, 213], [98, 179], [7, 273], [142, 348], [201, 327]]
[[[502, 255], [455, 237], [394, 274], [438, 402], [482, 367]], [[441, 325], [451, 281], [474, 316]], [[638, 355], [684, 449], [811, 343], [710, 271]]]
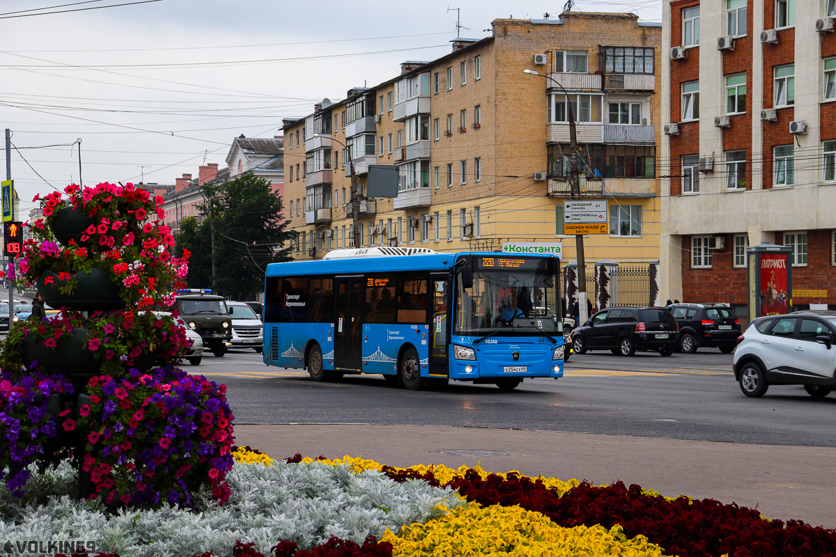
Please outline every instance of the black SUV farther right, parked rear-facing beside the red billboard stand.
[[740, 319], [725, 304], [671, 304], [668, 309], [680, 326], [680, 348], [693, 354], [699, 347], [720, 348], [730, 354], [740, 337]]

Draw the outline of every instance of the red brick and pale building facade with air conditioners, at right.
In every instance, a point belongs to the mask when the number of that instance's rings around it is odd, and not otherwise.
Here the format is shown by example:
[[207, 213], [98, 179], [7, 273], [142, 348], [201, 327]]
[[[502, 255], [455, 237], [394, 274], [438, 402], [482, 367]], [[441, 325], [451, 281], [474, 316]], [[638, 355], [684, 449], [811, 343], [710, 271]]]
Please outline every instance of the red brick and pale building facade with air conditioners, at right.
[[836, 306], [834, 12], [665, 0], [663, 297], [742, 308], [746, 249], [771, 243], [793, 246], [795, 307]]

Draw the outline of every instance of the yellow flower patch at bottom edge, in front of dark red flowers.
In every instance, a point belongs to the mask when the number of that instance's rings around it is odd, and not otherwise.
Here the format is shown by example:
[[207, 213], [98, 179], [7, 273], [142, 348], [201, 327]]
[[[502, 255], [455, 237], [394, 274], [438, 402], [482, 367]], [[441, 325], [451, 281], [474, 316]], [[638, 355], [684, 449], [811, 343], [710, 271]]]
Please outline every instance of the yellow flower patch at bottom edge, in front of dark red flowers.
[[627, 539], [620, 526], [563, 528], [543, 514], [492, 505], [453, 509], [426, 524], [410, 524], [382, 541], [394, 547], [393, 557], [421, 555], [538, 555], [558, 557], [661, 557], [664, 553], [643, 535]]

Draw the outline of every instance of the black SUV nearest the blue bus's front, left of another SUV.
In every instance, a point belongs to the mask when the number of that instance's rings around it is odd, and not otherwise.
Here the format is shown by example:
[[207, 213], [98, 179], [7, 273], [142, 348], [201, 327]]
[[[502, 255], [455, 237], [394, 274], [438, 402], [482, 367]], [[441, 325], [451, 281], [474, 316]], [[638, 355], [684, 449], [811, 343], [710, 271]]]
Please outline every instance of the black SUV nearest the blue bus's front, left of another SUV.
[[610, 307], [572, 332], [574, 352], [609, 350], [632, 356], [636, 350], [658, 350], [670, 356], [679, 343], [674, 316], [664, 307]]

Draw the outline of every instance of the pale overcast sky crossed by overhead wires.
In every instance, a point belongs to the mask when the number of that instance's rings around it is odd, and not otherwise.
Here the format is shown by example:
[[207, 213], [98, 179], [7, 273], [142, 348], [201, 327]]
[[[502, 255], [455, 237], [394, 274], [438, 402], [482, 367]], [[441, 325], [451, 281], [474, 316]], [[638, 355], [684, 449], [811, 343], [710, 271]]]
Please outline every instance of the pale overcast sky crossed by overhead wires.
[[[557, 17], [565, 0], [289, 7], [160, 0], [103, 8], [130, 2], [138, 0], [0, 3], [0, 128], [12, 130], [19, 149], [11, 160], [23, 220], [35, 193], [78, 183], [77, 139], [84, 185], [143, 177], [173, 184], [183, 173], [196, 176], [201, 164], [226, 166], [240, 134], [273, 137], [283, 118], [308, 114], [323, 98], [385, 81], [404, 60], [446, 54], [455, 8], [461, 36], [483, 38], [492, 19]], [[661, 0], [586, 0], [573, 9], [661, 18]], [[59, 146], [33, 149], [48, 145]]]

